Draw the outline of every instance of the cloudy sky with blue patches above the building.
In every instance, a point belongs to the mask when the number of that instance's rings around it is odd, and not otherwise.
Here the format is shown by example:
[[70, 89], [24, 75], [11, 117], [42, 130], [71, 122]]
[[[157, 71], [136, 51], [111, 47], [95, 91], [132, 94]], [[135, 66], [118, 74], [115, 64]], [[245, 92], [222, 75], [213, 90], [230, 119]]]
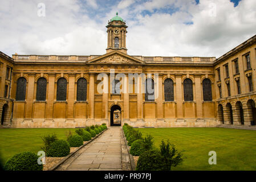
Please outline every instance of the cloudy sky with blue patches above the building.
[[256, 34], [255, 0], [0, 2], [0, 51], [9, 56], [102, 55], [116, 11], [129, 55], [220, 57]]

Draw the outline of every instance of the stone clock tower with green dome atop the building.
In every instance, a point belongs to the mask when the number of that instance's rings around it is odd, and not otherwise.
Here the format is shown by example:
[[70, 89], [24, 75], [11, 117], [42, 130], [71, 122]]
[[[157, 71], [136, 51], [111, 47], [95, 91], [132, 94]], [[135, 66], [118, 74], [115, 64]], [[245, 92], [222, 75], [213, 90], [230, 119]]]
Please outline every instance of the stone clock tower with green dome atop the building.
[[108, 28], [108, 47], [106, 49], [107, 53], [114, 50], [127, 53], [126, 28], [128, 27], [125, 25], [124, 20], [118, 16], [118, 13], [116, 13], [116, 16], [108, 21], [108, 25], [106, 27]]

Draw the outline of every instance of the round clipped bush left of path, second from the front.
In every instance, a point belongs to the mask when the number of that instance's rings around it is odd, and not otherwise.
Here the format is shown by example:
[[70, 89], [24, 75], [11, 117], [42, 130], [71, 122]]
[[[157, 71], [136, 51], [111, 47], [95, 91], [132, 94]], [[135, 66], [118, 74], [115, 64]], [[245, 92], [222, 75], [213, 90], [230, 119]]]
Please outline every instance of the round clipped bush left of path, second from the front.
[[70, 144], [66, 140], [56, 140], [50, 144], [46, 156], [60, 158], [68, 154], [70, 154]]

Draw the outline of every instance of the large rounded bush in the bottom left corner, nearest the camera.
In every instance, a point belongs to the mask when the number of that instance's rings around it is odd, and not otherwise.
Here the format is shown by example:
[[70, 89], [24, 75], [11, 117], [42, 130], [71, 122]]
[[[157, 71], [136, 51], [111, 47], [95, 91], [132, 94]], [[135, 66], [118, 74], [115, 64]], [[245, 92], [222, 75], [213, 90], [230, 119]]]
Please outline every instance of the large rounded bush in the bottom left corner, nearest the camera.
[[42, 171], [43, 164], [38, 164], [39, 156], [32, 152], [21, 152], [7, 160], [6, 171]]

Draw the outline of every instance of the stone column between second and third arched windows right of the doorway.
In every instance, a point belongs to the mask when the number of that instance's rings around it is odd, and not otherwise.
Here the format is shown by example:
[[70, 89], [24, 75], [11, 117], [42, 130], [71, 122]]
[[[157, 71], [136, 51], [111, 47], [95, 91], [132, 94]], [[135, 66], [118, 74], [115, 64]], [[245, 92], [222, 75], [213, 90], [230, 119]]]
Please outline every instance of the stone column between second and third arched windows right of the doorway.
[[177, 100], [177, 119], [183, 121], [183, 99], [182, 99], [182, 84], [181, 76], [176, 75], [176, 100]]

